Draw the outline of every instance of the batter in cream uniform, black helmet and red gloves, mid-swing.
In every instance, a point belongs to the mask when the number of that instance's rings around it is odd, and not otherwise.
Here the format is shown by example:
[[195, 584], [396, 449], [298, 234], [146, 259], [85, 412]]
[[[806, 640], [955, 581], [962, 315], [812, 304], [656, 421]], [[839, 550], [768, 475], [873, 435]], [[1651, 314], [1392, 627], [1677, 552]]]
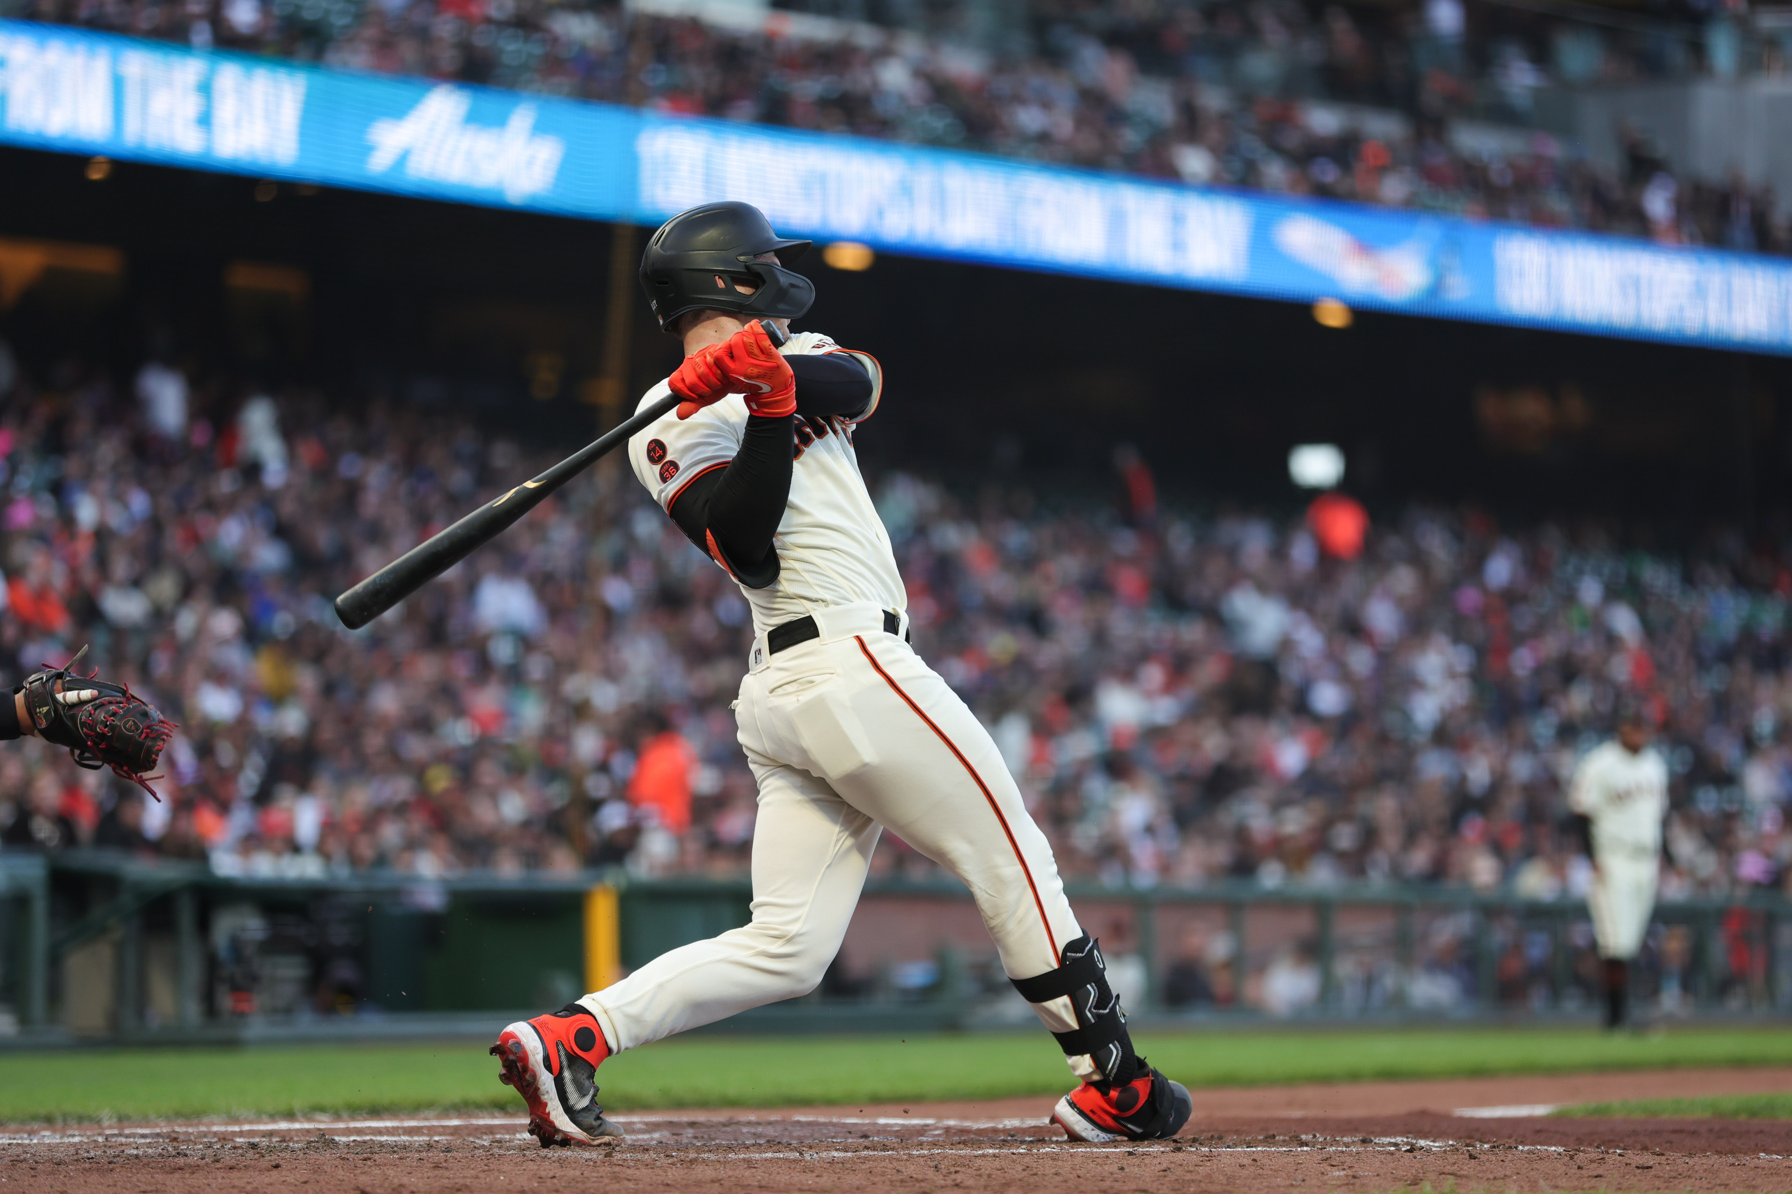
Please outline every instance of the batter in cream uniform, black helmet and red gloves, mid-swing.
[[545, 1146], [616, 1135], [593, 1101], [595, 1067], [814, 990], [889, 825], [971, 890], [1011, 981], [1082, 1079], [1054, 1119], [1084, 1140], [1176, 1135], [1188, 1090], [1133, 1053], [1100, 951], [1000, 752], [909, 646], [901, 575], [853, 453], [882, 371], [817, 333], [780, 353], [758, 322], [787, 328], [808, 310], [814, 286], [785, 269], [806, 247], [724, 202], [668, 220], [642, 261], [686, 354], [642, 405], [686, 401], [631, 440], [629, 460], [753, 603], [737, 702], [760, 786], [753, 922], [511, 1024], [493, 1045], [502, 1076]]

